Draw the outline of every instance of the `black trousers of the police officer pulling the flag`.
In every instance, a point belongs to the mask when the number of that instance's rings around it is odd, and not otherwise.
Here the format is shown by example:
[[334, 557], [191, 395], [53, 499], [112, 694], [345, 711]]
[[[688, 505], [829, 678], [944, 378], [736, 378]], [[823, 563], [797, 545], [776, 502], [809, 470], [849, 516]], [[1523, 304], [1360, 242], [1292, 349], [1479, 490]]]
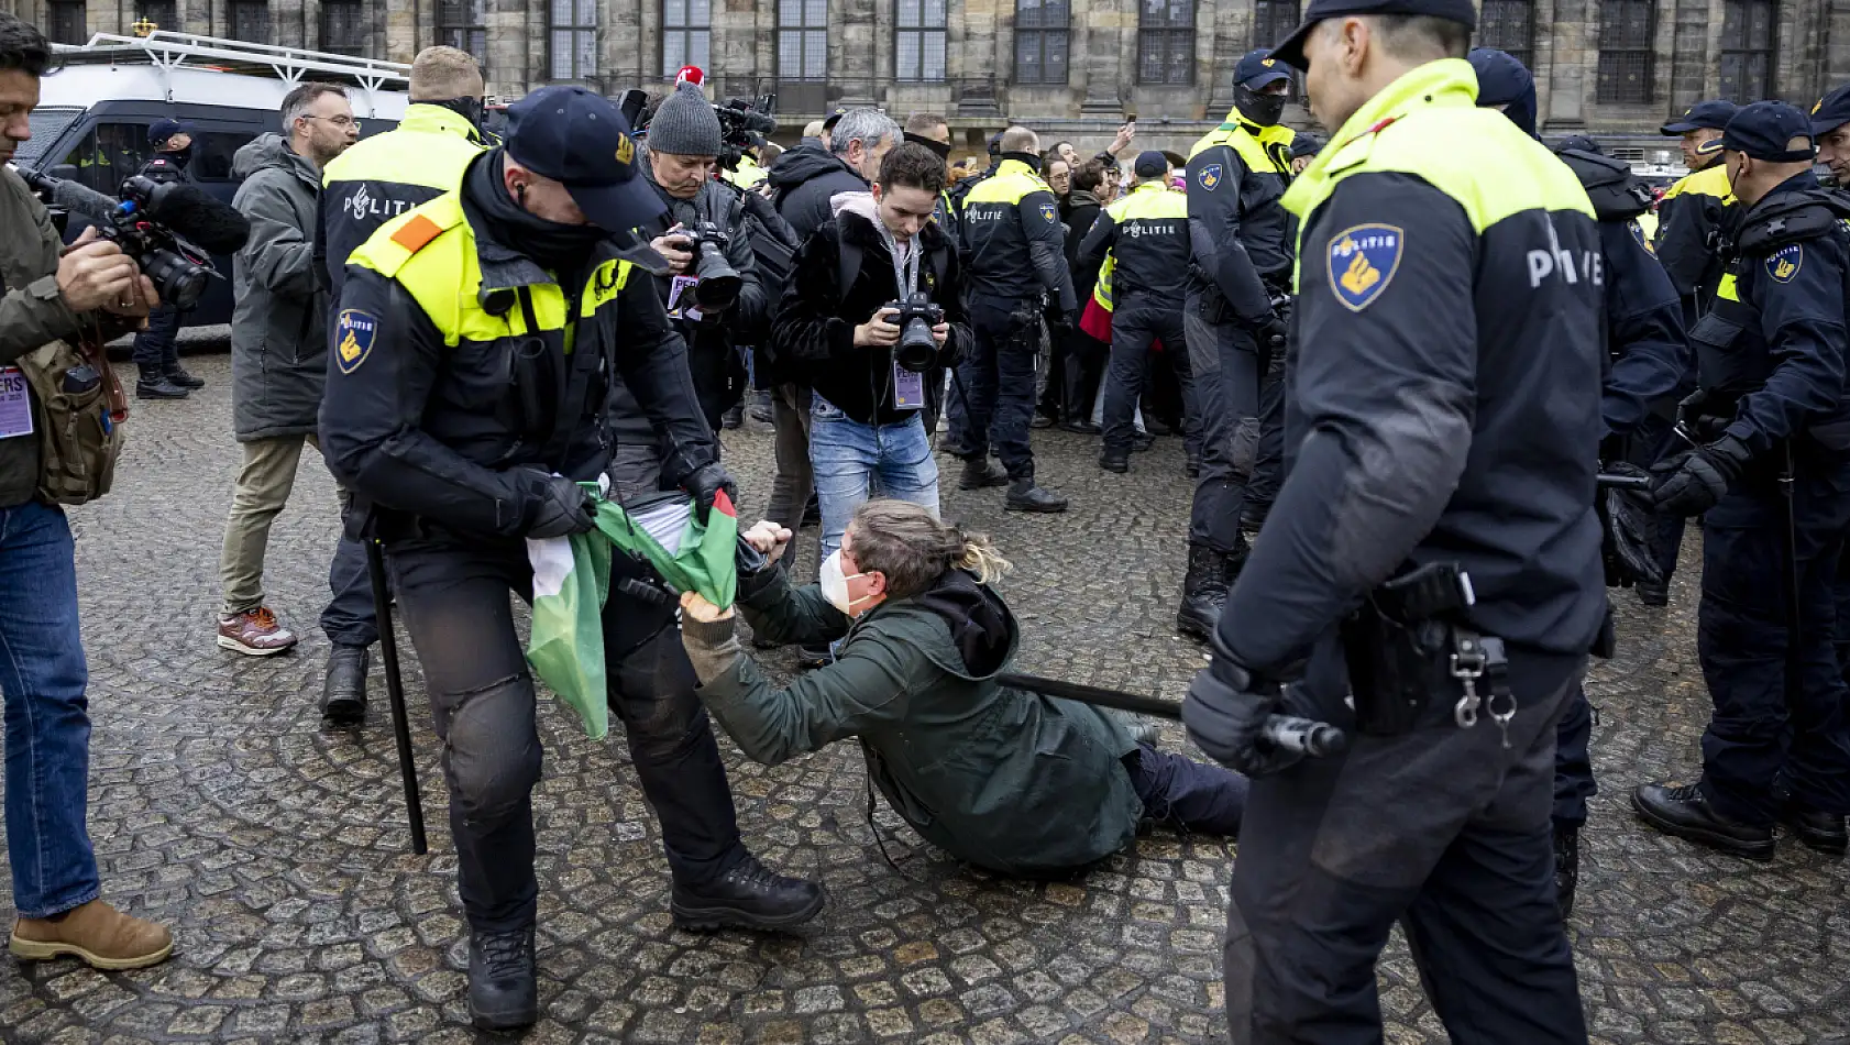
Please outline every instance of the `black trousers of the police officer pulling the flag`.
[[[540, 736], [509, 601], [509, 592], [533, 599], [525, 542], [426, 529], [405, 540], [388, 536], [387, 555], [444, 742], [462, 912], [477, 932], [529, 927], [538, 901], [533, 786]], [[733, 792], [694, 694], [675, 605], [623, 596], [618, 581], [612, 562], [603, 610], [610, 708], [660, 821], [670, 871], [677, 882], [703, 886], [746, 854]]]

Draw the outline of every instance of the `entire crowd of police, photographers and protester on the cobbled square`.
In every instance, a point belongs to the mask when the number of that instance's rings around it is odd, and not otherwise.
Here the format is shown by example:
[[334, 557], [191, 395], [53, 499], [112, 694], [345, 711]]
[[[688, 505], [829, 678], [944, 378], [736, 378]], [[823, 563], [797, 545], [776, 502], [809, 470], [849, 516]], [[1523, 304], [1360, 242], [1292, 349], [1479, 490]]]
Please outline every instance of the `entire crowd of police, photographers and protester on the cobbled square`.
[[[942, 115], [879, 109], [777, 150], [738, 141], [694, 70], [636, 126], [546, 87], [496, 139], [475, 61], [444, 46], [366, 141], [339, 85], [289, 92], [281, 133], [235, 159], [252, 235], [218, 644], [298, 644], [263, 568], [313, 446], [344, 520], [322, 714], [366, 718], [377, 542], [444, 747], [479, 1027], [538, 1017], [536, 686], [511, 605], [533, 597], [527, 542], [592, 531], [598, 485], [723, 510], [720, 433], [747, 409], [775, 473], [749, 479], [770, 518], [742, 535], [736, 609], [612, 577], [601, 616], [681, 927], [781, 930], [827, 899], [744, 847], [718, 721], [760, 762], [857, 740], [906, 823], [1005, 875], [1084, 867], [1140, 821], [1238, 834], [1234, 1041], [1378, 1036], [1399, 921], [1456, 1039], [1584, 1043], [1563, 932], [1595, 790], [1580, 679], [1611, 653], [1608, 586], [1665, 605], [1695, 516], [1715, 718], [1698, 782], [1639, 788], [1637, 814], [1750, 858], [1778, 823], [1846, 849], [1850, 203], [1811, 168], [1850, 176], [1850, 87], [1809, 115], [1702, 102], [1665, 124], [1693, 174], [1645, 237], [1648, 189], [1591, 139], [1543, 144], [1528, 70], [1469, 50], [1474, 24], [1463, 0], [1315, 0], [1238, 61], [1234, 109], [1188, 155], [1134, 152], [1132, 124], [1092, 157], [1010, 126], [953, 163]], [[0, 159], [48, 61], [0, 15]], [[1295, 74], [1328, 139], [1284, 126]], [[150, 137], [150, 178], [183, 179], [189, 128]], [[6, 227], [39, 229], [0, 253], [0, 377], [30, 407], [0, 412], [0, 581], [31, 592], [0, 609], [0, 645], [35, 651], [0, 673], [11, 947], [139, 967], [172, 936], [98, 897], [57, 507], [107, 481], [46, 494], [37, 446], [72, 407], [43, 388], [85, 361], [63, 338], [137, 326], [139, 396], [196, 381], [133, 261], [91, 233], [61, 252], [0, 185]], [[1108, 473], [1184, 442], [1177, 629], [1210, 666], [1182, 716], [1214, 764], [1006, 675], [1008, 562], [942, 518], [938, 455], [962, 490], [1062, 512], [1034, 459], [1054, 425], [1097, 436]], [[109, 466], [118, 448], [85, 444]], [[814, 671], [771, 682], [734, 612]], [[1349, 749], [1276, 744], [1282, 712]]]

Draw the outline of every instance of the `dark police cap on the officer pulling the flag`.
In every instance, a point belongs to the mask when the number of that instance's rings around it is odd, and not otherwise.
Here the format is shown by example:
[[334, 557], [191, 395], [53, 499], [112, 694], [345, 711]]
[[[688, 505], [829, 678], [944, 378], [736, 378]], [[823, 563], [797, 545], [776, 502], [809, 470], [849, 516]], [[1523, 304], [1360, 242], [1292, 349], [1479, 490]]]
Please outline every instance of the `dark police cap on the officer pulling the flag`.
[[507, 155], [566, 187], [590, 224], [620, 233], [666, 205], [636, 163], [629, 120], [583, 87], [540, 87], [507, 107]]

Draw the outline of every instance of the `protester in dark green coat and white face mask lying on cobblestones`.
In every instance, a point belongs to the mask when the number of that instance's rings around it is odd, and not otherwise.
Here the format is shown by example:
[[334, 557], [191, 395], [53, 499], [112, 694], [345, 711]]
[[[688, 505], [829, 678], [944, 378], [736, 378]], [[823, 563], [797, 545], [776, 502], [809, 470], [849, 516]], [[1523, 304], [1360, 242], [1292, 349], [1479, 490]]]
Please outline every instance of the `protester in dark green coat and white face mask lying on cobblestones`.
[[777, 764], [858, 738], [894, 810], [929, 842], [1003, 875], [1043, 877], [1123, 849], [1140, 819], [1230, 836], [1247, 781], [1140, 744], [1092, 705], [997, 682], [1019, 645], [990, 583], [1008, 570], [982, 536], [903, 501], [868, 501], [821, 584], [794, 588], [790, 531], [744, 535], [771, 566], [740, 575], [758, 634], [842, 638], [840, 660], [771, 686], [733, 638], [733, 610], [681, 597], [699, 695], [738, 747]]

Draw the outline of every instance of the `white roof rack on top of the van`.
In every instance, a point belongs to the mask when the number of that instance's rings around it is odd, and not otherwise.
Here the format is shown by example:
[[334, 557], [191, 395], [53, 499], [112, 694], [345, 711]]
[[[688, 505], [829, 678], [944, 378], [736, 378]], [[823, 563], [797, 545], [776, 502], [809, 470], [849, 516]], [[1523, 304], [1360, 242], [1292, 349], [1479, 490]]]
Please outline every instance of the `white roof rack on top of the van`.
[[300, 83], [303, 78], [339, 78], [368, 91], [405, 91], [411, 87], [411, 67], [401, 61], [348, 57], [168, 30], [155, 30], [146, 37], [96, 33], [83, 46], [57, 46], [57, 57], [67, 65], [146, 61], [161, 68], [183, 65], [220, 68], [246, 76], [276, 76], [285, 83]]

